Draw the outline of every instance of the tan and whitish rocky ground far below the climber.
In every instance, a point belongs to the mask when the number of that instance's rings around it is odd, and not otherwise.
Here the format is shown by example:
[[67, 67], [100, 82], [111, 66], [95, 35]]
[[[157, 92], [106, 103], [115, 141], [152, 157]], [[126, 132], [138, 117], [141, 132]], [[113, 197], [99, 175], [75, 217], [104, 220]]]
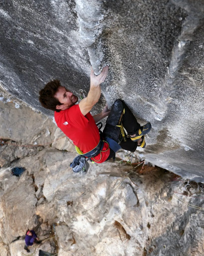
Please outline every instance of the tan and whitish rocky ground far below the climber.
[[[203, 184], [124, 151], [74, 174], [74, 146], [52, 119], [16, 107], [0, 102], [1, 256], [204, 255]], [[42, 240], [30, 253], [28, 228]]]

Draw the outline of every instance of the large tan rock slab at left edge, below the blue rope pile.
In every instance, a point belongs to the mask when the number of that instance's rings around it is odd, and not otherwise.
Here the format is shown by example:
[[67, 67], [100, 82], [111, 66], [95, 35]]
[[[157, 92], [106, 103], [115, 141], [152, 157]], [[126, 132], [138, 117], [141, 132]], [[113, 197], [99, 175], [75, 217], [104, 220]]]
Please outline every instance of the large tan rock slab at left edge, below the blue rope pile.
[[0, 236], [4, 243], [10, 243], [23, 236], [28, 228], [37, 224], [34, 210], [37, 199], [32, 183], [31, 177], [23, 175], [13, 186], [10, 185], [1, 197]]

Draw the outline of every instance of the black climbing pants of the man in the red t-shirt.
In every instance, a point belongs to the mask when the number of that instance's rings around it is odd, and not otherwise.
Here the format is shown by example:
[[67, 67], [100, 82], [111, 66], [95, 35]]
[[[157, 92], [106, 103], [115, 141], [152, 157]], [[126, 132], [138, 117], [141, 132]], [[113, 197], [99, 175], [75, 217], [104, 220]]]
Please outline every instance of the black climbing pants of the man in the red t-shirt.
[[[140, 124], [137, 122], [137, 119], [135, 118], [133, 113], [130, 111], [128, 106], [124, 103], [124, 101], [116, 100], [114, 102], [114, 104], [117, 104], [119, 101], [122, 102], [123, 108], [125, 109], [125, 113], [124, 113], [123, 119], [122, 119], [122, 125], [129, 135], [134, 135], [139, 130]], [[111, 111], [112, 110], [114, 110], [113, 106], [111, 108]], [[109, 116], [111, 116], [111, 112], [110, 112]], [[112, 115], [112, 116], [114, 116], [114, 115]], [[106, 126], [104, 127], [104, 130], [103, 130], [103, 135], [104, 135], [104, 137], [107, 136], [109, 138], [112, 138], [114, 141], [116, 141], [118, 143], [119, 137], [120, 137], [120, 127], [106, 123]], [[124, 150], [135, 152], [135, 150], [137, 148], [137, 142], [132, 141], [131, 138], [129, 138], [129, 137], [126, 137], [126, 140], [127, 140], [126, 142], [124, 142], [122, 140], [120, 142], [120, 146]], [[110, 150], [110, 155], [107, 158], [107, 160], [109, 160], [113, 156], [114, 156], [114, 152], [112, 150]]]

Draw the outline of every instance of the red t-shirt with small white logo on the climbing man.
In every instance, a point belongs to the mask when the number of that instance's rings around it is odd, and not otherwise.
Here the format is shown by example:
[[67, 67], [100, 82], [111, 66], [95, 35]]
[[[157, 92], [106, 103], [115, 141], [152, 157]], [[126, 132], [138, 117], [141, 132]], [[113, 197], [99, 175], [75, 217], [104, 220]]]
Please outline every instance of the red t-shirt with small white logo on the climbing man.
[[[79, 105], [73, 105], [66, 110], [60, 112], [55, 111], [55, 122], [62, 132], [69, 137], [75, 146], [85, 154], [94, 149], [100, 140], [98, 127], [95, 124], [93, 116], [88, 113], [85, 116], [81, 113]], [[103, 151], [109, 147], [108, 143], [104, 142]], [[99, 160], [97, 163], [106, 161], [110, 154], [110, 149], [106, 152], [101, 152], [91, 159]], [[100, 159], [101, 157], [101, 159]]]

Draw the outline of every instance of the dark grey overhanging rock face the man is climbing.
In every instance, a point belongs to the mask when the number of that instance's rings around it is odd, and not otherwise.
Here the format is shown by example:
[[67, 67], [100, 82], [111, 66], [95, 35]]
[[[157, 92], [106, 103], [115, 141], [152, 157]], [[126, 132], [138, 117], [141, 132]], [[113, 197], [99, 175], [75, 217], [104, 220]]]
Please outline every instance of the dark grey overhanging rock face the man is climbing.
[[204, 181], [203, 1], [7, 1], [0, 6], [1, 83], [50, 115], [38, 92], [59, 78], [88, 92], [109, 65], [104, 97], [122, 98], [152, 131], [141, 157]]

